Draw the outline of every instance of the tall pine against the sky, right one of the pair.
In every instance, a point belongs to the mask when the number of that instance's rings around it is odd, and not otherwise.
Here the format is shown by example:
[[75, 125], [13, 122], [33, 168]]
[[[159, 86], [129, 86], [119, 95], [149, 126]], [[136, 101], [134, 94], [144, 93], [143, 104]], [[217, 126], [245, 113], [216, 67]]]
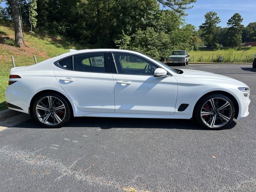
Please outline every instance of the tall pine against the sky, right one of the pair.
[[235, 13], [227, 22], [227, 42], [229, 46], [236, 47], [242, 44], [242, 30], [243, 25], [241, 22], [243, 18], [239, 13]]

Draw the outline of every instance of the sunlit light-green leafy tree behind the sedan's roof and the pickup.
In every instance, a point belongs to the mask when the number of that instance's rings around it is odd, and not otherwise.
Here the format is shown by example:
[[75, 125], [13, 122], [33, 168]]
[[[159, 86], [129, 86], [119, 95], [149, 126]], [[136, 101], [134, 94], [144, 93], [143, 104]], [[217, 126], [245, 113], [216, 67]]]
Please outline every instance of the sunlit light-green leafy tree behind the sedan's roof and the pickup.
[[155, 27], [140, 29], [131, 36], [123, 32], [115, 41], [116, 46], [141, 51], [161, 60], [165, 60], [172, 50], [191, 50], [195, 27], [184, 25], [183, 18], [174, 11], [162, 10], [159, 14]]

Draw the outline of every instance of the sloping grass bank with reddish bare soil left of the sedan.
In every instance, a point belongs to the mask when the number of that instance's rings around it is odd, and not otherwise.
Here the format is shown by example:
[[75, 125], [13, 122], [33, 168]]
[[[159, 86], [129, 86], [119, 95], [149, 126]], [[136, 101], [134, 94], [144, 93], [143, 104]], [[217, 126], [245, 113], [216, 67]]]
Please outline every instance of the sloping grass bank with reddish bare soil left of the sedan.
[[75, 47], [70, 42], [61, 38], [50, 37], [44, 33], [36, 32], [33, 36], [29, 32], [24, 34], [25, 43], [28, 47], [17, 48], [4, 44], [4, 39], [14, 39], [14, 27], [11, 24], [0, 25], [0, 110], [6, 109], [4, 91], [8, 86], [8, 77], [12, 68], [11, 56], [14, 56], [15, 66], [28, 66], [35, 64], [33, 55], [37, 62], [41, 62], [56, 55], [69, 52], [68, 49], [82, 49]]

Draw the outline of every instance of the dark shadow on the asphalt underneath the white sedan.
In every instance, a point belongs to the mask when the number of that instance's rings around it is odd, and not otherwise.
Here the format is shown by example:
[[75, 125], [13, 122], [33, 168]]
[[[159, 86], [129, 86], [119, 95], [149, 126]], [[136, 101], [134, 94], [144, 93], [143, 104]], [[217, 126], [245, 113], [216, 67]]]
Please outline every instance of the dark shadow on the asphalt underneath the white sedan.
[[[223, 130], [236, 126], [236, 122]], [[17, 128], [45, 128], [36, 122], [34, 118], [16, 124]], [[146, 119], [146, 118], [99, 118], [99, 117], [75, 117], [64, 125], [64, 127], [85, 127], [85, 128], [151, 128], [151, 129], [183, 129], [183, 130], [208, 130], [199, 126], [192, 120], [179, 119]], [[60, 128], [61, 129], [61, 128]], [[216, 130], [216, 129], [214, 129]]]

